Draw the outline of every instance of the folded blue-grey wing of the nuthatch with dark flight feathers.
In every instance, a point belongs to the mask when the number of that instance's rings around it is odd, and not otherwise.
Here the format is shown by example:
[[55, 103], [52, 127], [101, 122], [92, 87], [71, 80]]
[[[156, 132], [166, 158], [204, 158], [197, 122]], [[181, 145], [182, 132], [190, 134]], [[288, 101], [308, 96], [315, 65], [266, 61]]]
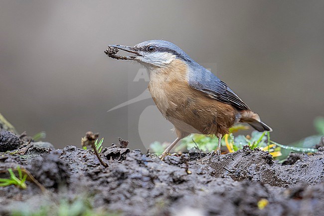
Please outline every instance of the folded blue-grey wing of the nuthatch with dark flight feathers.
[[221, 81], [213, 73], [205, 68], [197, 68], [198, 71], [189, 74], [188, 84], [194, 89], [204, 92], [209, 97], [220, 102], [230, 104], [238, 110], [250, 110], [226, 83]]

